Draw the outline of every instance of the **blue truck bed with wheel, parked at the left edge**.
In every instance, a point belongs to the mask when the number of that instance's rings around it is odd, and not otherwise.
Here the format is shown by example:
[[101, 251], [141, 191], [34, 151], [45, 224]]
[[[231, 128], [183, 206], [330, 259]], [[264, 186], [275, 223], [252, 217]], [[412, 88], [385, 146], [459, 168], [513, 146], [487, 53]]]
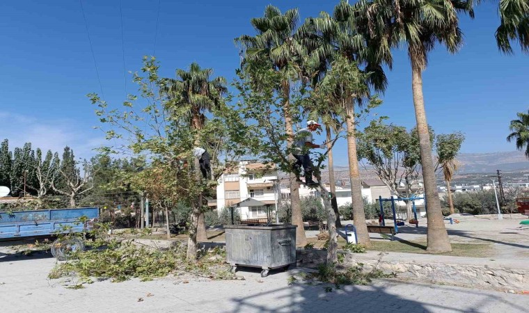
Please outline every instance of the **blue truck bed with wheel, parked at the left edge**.
[[[0, 212], [0, 241], [33, 239], [93, 230], [99, 218], [98, 207]], [[84, 217], [84, 218], [81, 218]], [[79, 220], [84, 220], [80, 223]], [[65, 259], [68, 251], [83, 250], [84, 242], [71, 236], [52, 243], [52, 255]]]

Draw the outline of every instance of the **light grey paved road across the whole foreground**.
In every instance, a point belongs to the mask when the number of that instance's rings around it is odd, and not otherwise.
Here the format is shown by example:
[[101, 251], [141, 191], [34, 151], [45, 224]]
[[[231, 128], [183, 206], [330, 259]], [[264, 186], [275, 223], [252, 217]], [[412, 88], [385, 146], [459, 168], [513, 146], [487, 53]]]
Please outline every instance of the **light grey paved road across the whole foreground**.
[[[288, 285], [287, 273], [246, 280], [130, 280], [66, 289], [47, 280], [54, 259], [0, 253], [0, 312], [528, 312], [529, 296], [379, 280], [326, 292], [324, 285]], [[152, 296], [147, 296], [152, 294]], [[139, 299], [142, 299], [139, 301]]]

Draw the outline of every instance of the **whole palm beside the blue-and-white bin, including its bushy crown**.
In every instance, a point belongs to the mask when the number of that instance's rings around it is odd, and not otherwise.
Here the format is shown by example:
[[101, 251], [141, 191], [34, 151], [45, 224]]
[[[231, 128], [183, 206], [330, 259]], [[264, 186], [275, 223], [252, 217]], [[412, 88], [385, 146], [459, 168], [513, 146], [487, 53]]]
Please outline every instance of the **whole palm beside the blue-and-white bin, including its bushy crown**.
[[[318, 72], [315, 77], [321, 79], [320, 88], [326, 89], [329, 99], [339, 104], [342, 118], [347, 125], [354, 224], [358, 242], [370, 245], [356, 152], [355, 105], [361, 105], [363, 100], [370, 97], [368, 85], [374, 90], [386, 88], [386, 77], [381, 63], [390, 64], [390, 54], [379, 49], [384, 45], [369, 42], [365, 33], [358, 31], [353, 7], [346, 1], [340, 1], [335, 6], [333, 16], [322, 12], [319, 17], [307, 19], [301, 27], [301, 33], [305, 38], [304, 45], [310, 51], [308, 63], [317, 65]], [[364, 70], [358, 68], [358, 63], [365, 64]], [[325, 75], [329, 67], [322, 64], [331, 64], [330, 68], [336, 67], [332, 77]]]

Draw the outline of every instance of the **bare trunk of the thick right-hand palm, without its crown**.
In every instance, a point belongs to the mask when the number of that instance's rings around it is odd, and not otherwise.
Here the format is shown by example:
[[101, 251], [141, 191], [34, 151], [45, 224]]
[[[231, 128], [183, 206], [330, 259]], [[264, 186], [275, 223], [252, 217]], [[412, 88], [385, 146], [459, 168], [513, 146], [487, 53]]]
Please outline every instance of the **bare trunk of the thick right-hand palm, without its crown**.
[[411, 62], [411, 89], [413, 90], [413, 106], [417, 120], [417, 131], [420, 144], [420, 161], [423, 168], [425, 185], [425, 198], [427, 202], [427, 250], [431, 252], [450, 252], [452, 246], [448, 241], [448, 233], [443, 221], [441, 202], [435, 184], [434, 161], [432, 158], [432, 145], [430, 143], [428, 124], [426, 120], [425, 103], [423, 99], [422, 70]]

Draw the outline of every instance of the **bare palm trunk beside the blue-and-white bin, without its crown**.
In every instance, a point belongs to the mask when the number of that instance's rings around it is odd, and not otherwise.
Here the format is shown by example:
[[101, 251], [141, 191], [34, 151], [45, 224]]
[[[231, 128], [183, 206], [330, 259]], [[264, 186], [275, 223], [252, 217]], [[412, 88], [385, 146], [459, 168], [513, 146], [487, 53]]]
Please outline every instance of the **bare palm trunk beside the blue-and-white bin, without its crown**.
[[358, 243], [365, 246], [371, 246], [369, 239], [368, 225], [365, 224], [365, 212], [363, 209], [362, 199], [362, 181], [360, 179], [360, 170], [358, 169], [358, 157], [356, 155], [356, 134], [354, 125], [354, 102], [349, 101], [347, 116], [347, 154], [349, 157], [349, 177], [351, 178], [351, 200], [353, 206], [354, 226], [356, 227], [356, 236]]

